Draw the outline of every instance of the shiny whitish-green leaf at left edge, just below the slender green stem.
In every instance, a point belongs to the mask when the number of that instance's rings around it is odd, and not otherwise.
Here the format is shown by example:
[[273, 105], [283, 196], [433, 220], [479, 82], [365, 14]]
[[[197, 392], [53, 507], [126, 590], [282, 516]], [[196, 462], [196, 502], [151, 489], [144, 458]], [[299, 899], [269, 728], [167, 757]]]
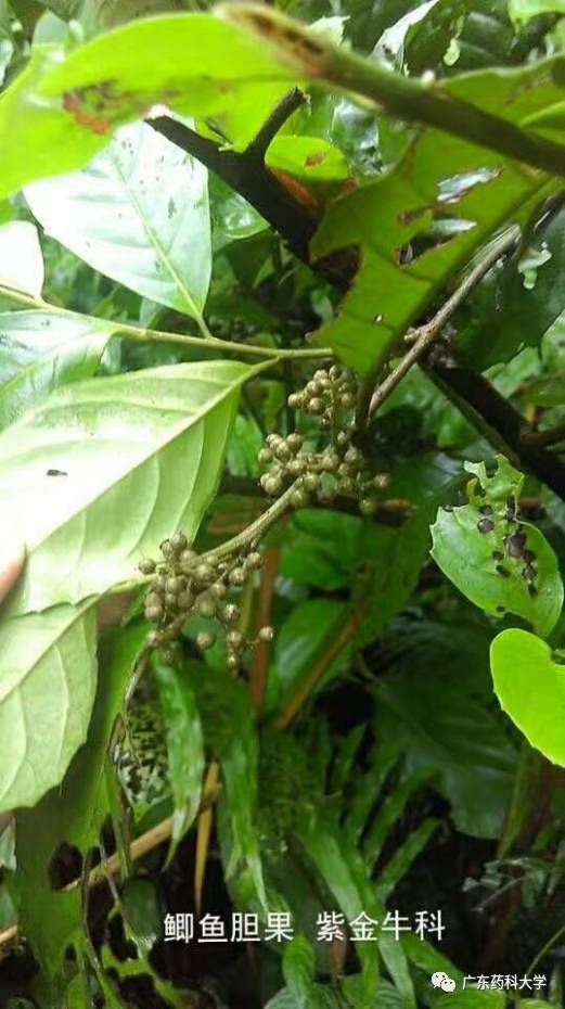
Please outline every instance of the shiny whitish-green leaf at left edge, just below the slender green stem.
[[60, 385], [91, 378], [112, 324], [54, 311], [0, 315], [0, 429]]

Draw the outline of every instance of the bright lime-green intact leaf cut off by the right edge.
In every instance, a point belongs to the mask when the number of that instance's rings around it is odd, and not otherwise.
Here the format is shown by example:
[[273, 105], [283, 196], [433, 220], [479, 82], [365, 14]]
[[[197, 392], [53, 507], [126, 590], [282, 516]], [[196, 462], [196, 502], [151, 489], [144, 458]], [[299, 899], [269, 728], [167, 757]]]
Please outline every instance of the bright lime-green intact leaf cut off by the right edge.
[[527, 630], [499, 634], [490, 647], [495, 691], [503, 711], [532, 746], [565, 766], [564, 653]]

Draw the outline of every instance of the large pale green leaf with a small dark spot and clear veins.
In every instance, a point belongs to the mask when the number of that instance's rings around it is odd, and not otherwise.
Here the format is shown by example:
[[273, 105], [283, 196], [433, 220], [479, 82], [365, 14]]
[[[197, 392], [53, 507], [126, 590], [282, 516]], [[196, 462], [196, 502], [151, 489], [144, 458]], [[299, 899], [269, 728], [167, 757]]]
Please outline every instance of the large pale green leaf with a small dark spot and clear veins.
[[1, 509], [28, 548], [11, 612], [103, 592], [175, 527], [192, 539], [254, 373], [211, 361], [77, 382], [0, 435]]

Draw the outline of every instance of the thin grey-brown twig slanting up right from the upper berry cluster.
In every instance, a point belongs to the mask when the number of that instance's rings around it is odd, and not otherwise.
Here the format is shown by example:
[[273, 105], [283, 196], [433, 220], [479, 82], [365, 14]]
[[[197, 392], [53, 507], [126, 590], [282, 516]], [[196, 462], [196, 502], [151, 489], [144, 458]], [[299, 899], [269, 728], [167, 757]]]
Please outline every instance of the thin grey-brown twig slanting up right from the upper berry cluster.
[[495, 266], [498, 259], [504, 253], [510, 252], [516, 244], [519, 238], [518, 228], [512, 228], [506, 234], [504, 234], [498, 242], [495, 242], [492, 246], [486, 252], [485, 256], [473, 267], [472, 270], [466, 274], [463, 281], [460, 283], [459, 288], [453, 292], [451, 297], [444, 303], [438, 312], [434, 316], [429, 322], [426, 322], [424, 325], [421, 325], [415, 330], [414, 335], [415, 340], [409, 350], [405, 354], [403, 358], [399, 361], [396, 368], [390, 372], [389, 375], [381, 383], [376, 392], [371, 398], [371, 405], [369, 408], [369, 416], [372, 417], [376, 410], [383, 405], [385, 399], [390, 396], [395, 391], [398, 383], [405, 378], [405, 375], [410, 371], [413, 365], [422, 357], [426, 350], [435, 343], [435, 341], [441, 335], [441, 330], [444, 329], [446, 322], [451, 318], [454, 311], [460, 307], [460, 305], [465, 301], [468, 294], [472, 292], [473, 288], [479, 282], [479, 280], [485, 277], [486, 273]]

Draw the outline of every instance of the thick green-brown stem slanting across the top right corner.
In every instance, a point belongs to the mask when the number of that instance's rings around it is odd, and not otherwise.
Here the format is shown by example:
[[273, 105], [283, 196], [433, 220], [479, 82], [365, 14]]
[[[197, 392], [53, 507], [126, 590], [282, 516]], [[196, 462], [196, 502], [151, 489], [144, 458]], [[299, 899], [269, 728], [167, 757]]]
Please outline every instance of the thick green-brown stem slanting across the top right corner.
[[427, 82], [385, 69], [376, 61], [332, 46], [299, 22], [262, 5], [230, 3], [222, 13], [273, 46], [299, 76], [364, 95], [407, 123], [434, 126], [542, 171], [565, 176], [563, 144], [458, 98], [444, 81]]

